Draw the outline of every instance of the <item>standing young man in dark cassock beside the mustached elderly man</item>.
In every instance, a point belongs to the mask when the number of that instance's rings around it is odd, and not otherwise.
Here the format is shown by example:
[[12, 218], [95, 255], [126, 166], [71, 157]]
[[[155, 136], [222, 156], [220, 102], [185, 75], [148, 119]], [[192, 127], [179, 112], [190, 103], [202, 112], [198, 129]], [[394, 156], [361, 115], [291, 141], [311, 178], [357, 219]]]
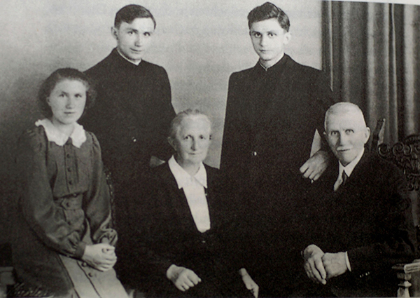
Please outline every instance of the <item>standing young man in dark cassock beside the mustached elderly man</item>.
[[230, 76], [221, 168], [237, 181], [244, 199], [248, 247], [255, 250], [258, 271], [253, 276], [262, 278], [258, 283], [266, 295], [284, 296], [282, 285], [293, 278], [288, 266], [297, 268], [289, 252], [300, 194], [328, 164], [327, 149], [311, 156], [311, 147], [316, 130], [323, 131], [332, 93], [319, 70], [284, 53], [290, 22], [280, 8], [269, 2], [254, 8], [248, 27], [260, 60]]

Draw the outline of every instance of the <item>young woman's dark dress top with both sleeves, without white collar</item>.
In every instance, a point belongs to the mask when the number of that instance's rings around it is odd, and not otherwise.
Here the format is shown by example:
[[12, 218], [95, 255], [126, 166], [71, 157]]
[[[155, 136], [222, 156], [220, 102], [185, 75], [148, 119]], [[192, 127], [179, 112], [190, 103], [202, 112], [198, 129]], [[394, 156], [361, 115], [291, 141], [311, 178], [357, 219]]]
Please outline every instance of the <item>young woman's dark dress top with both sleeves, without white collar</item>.
[[[18, 144], [20, 208], [36, 236], [52, 250], [80, 259], [86, 244], [116, 243], [99, 142], [87, 133], [80, 148], [48, 142], [43, 128]], [[89, 225], [89, 226], [87, 226]], [[90, 229], [91, 239], [83, 241]]]

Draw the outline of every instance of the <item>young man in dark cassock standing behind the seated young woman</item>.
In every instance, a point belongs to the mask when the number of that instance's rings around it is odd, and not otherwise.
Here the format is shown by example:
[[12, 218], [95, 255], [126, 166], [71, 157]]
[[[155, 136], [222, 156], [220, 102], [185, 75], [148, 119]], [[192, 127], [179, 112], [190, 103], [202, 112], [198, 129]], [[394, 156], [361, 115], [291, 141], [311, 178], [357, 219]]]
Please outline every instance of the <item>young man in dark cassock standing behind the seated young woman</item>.
[[[126, 216], [130, 201], [141, 197], [132, 193], [132, 186], [143, 183], [141, 177], [149, 165], [167, 160], [172, 153], [167, 130], [175, 112], [167, 72], [143, 60], [155, 27], [155, 18], [146, 8], [124, 6], [111, 28], [116, 48], [86, 71], [97, 84], [98, 96], [81, 122], [97, 135], [104, 165], [111, 171], [121, 237], [130, 236], [131, 219]], [[121, 245], [119, 266], [127, 255]]]

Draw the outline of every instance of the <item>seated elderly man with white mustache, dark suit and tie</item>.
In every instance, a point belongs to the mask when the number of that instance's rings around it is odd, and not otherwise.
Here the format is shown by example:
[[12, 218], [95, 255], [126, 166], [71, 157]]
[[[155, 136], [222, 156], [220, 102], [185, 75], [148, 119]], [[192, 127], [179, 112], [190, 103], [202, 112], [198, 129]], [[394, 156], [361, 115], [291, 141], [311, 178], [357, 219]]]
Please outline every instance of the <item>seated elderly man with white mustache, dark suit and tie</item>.
[[304, 270], [321, 286], [314, 295], [390, 297], [391, 266], [414, 258], [414, 226], [402, 172], [365, 150], [370, 137], [356, 104], [325, 114], [325, 137], [337, 157], [314, 182]]

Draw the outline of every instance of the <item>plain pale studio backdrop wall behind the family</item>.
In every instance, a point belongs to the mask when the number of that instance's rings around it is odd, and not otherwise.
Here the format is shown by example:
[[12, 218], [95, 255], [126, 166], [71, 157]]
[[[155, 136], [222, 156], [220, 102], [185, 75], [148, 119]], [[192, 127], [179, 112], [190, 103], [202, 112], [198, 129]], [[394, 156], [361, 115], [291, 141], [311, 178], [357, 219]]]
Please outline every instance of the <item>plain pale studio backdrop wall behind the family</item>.
[[[207, 163], [218, 166], [228, 79], [258, 61], [246, 16], [264, 2], [1, 0], [0, 177], [12, 170], [13, 148], [22, 130], [42, 117], [36, 106], [41, 81], [57, 68], [84, 71], [109, 55], [116, 46], [111, 36], [114, 17], [127, 4], [145, 6], [156, 19], [153, 44], [144, 60], [167, 70], [176, 111], [198, 108], [213, 118]], [[273, 3], [290, 18], [293, 38], [286, 52], [320, 69], [321, 1]]]

